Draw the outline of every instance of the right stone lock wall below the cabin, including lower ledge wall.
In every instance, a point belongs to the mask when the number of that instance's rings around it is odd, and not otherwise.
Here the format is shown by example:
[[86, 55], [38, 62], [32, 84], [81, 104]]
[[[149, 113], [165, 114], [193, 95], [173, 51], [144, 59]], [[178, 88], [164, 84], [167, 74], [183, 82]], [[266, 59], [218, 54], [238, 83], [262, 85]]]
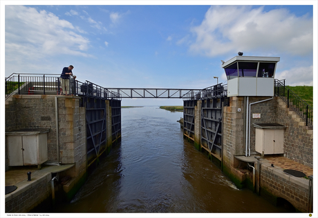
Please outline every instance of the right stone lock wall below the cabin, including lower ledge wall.
[[[270, 97], [250, 97], [249, 103], [270, 99]], [[250, 175], [236, 169], [240, 161], [234, 156], [245, 155], [246, 139], [246, 99], [230, 97], [230, 106], [223, 108], [223, 172], [234, 181], [238, 188], [243, 188], [242, 181]], [[258, 114], [260, 118], [253, 118]], [[255, 128], [253, 123], [279, 123], [286, 126], [284, 134], [283, 156], [312, 168], [312, 130], [306, 128], [303, 119], [287, 108], [287, 104], [279, 97], [251, 105], [250, 111], [250, 153], [261, 155], [255, 151]], [[277, 201], [288, 200], [297, 210], [308, 211], [309, 180], [286, 175], [261, 164], [261, 195], [270, 196]], [[277, 203], [277, 202], [274, 202]]]

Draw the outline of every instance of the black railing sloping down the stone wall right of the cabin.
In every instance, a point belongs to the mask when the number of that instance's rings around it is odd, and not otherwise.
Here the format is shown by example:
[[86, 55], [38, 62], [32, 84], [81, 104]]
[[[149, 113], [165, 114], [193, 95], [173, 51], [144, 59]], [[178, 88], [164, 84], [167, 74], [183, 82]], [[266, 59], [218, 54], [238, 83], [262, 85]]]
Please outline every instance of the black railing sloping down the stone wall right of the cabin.
[[306, 126], [312, 126], [313, 109], [292, 90], [285, 86], [285, 79], [275, 79], [275, 96], [281, 97], [287, 103], [288, 108], [292, 108], [298, 115], [306, 120]]

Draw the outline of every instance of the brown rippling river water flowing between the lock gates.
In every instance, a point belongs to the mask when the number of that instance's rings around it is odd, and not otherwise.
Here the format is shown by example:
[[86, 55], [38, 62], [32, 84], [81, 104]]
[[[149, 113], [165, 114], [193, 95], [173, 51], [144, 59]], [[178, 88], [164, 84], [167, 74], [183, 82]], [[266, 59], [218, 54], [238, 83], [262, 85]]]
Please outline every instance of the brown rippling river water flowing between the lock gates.
[[122, 141], [54, 212], [287, 212], [238, 190], [183, 139], [183, 112], [122, 108]]

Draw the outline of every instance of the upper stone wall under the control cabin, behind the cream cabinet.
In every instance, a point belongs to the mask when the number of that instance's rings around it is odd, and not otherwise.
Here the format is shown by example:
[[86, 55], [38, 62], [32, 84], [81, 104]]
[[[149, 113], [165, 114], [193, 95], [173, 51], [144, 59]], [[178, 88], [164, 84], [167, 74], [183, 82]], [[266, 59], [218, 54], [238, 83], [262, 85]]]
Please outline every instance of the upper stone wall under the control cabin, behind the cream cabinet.
[[[250, 97], [249, 103], [265, 99], [269, 99], [269, 97]], [[302, 119], [292, 113], [287, 106], [282, 104], [283, 108], [281, 108], [279, 101], [279, 97], [274, 97], [272, 100], [251, 105], [251, 154], [256, 153], [253, 123], [279, 123], [286, 126], [284, 157], [312, 168], [312, 131], [308, 130]], [[245, 114], [244, 97], [230, 97], [230, 106], [223, 108], [223, 164], [226, 166], [234, 167], [234, 155], [245, 155]], [[260, 115], [260, 118], [253, 118], [253, 114]]]

